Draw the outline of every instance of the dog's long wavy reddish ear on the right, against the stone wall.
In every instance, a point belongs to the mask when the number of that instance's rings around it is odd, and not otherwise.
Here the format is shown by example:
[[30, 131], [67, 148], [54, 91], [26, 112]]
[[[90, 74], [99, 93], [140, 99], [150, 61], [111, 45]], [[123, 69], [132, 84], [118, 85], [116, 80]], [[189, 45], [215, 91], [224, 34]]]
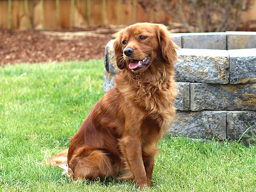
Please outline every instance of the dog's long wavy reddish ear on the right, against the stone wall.
[[162, 24], [158, 24], [157, 36], [163, 59], [173, 64], [178, 59], [176, 49], [179, 47], [172, 41], [167, 27]]

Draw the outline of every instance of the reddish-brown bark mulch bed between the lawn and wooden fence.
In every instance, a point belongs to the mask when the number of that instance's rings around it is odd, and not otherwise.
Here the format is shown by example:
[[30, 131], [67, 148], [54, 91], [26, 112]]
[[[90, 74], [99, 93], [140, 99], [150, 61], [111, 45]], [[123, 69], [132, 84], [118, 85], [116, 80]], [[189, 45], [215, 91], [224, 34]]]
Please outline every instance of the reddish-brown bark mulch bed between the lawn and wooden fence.
[[[67, 30], [57, 34], [65, 32]], [[0, 29], [0, 65], [104, 58], [106, 44], [113, 39], [113, 33], [96, 34], [96, 37], [59, 36], [35, 30]]]

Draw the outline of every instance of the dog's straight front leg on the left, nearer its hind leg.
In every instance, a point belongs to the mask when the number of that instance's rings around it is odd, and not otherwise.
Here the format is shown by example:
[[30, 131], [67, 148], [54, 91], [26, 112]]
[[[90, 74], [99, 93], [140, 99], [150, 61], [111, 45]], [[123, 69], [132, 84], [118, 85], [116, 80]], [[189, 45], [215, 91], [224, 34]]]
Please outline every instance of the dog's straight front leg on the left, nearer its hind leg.
[[148, 186], [140, 138], [129, 136], [123, 137], [119, 141], [126, 163], [131, 173], [134, 175], [135, 183], [137, 183], [140, 188]]

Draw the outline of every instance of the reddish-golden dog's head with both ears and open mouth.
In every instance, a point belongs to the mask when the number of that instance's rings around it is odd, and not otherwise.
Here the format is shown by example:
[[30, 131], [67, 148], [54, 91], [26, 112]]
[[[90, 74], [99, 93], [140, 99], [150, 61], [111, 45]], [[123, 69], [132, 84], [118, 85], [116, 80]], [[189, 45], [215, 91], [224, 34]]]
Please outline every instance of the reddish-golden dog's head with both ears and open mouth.
[[[119, 69], [139, 73], [156, 64], [173, 65], [176, 49], [169, 31], [162, 24], [137, 23], [117, 33], [113, 43]], [[158, 66], [160, 67], [160, 66]]]

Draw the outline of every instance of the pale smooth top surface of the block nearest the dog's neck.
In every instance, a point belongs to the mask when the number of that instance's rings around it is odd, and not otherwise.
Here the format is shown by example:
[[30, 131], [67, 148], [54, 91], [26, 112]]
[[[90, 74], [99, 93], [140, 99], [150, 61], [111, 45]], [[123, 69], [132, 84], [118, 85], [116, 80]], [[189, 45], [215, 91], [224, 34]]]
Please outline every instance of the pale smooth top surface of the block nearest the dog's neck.
[[229, 57], [228, 50], [221, 49], [186, 49], [180, 48], [177, 50], [178, 55], [190, 56], [214, 56], [214, 57]]

